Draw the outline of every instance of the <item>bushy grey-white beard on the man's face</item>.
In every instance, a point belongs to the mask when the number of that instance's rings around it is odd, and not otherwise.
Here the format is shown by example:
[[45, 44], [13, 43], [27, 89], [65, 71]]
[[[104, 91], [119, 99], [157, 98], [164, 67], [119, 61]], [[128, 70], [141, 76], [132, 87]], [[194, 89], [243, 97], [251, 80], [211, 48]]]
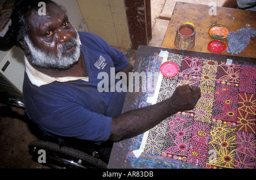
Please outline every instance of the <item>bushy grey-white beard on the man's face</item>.
[[[24, 37], [28, 48], [30, 49], [30, 55], [27, 56], [28, 61], [33, 65], [41, 68], [55, 68], [55, 69], [68, 69], [71, 68], [76, 62], [79, 61], [80, 57], [80, 40], [79, 34], [77, 33], [76, 39], [71, 39], [66, 43], [61, 44], [59, 52], [53, 55], [51, 52], [43, 51], [42, 49], [36, 48], [28, 36]], [[68, 55], [63, 55], [68, 49], [75, 47], [75, 49]]]

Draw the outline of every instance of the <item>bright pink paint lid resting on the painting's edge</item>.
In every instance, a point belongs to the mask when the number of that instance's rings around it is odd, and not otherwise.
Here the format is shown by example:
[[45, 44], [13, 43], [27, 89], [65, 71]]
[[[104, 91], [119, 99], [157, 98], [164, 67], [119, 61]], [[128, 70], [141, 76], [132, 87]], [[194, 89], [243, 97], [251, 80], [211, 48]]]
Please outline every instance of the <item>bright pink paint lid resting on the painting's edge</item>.
[[160, 72], [165, 77], [175, 77], [179, 73], [179, 66], [175, 62], [167, 61], [160, 66]]

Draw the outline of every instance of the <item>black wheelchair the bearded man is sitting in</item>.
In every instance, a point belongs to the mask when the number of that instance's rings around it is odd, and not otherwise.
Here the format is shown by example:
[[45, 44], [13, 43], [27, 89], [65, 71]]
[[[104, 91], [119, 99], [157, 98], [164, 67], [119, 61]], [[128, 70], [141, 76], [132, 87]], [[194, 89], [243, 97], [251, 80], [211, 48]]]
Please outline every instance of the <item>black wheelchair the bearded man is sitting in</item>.
[[[8, 93], [1, 93], [1, 103], [11, 106], [18, 106], [25, 109], [24, 103], [16, 98], [10, 97]], [[35, 128], [36, 127], [35, 125]], [[41, 158], [44, 162], [42, 165], [53, 169], [107, 169], [108, 157], [112, 143], [106, 143], [107, 153], [102, 152], [102, 146], [83, 140], [57, 137], [48, 132], [41, 132], [39, 140], [32, 141], [28, 144], [28, 149], [32, 156], [32, 161], [40, 163]], [[105, 148], [106, 149], [106, 148]], [[43, 150], [43, 151], [42, 151]], [[42, 153], [43, 152], [43, 153]], [[104, 155], [101, 155], [104, 154]]]

